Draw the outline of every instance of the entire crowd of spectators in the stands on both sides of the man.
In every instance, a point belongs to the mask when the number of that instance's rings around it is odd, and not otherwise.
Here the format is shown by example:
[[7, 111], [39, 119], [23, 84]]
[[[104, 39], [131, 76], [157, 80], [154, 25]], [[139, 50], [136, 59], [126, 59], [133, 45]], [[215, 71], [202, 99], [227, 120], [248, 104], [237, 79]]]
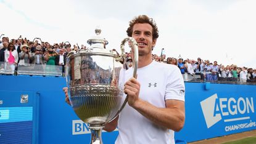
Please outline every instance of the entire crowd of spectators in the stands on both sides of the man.
[[[30, 41], [21, 36], [18, 39], [2, 37], [0, 63], [5, 63], [5, 65], [1, 65], [0, 69], [17, 72], [18, 68], [22, 70], [27, 66], [38, 65], [39, 70], [54, 71], [56, 69], [51, 65], [57, 65], [62, 67], [62, 74], [64, 74], [65, 58], [68, 52], [79, 49], [86, 49], [86, 46], [81, 45], [80, 47], [78, 44], [72, 46], [69, 42], [50, 44], [41, 41], [40, 38]], [[126, 53], [126, 57], [126, 67], [130, 68], [132, 66], [131, 54]], [[197, 60], [183, 59], [181, 56], [166, 58], [165, 54], [152, 54], [152, 59], [156, 62], [178, 66], [184, 81], [256, 82], [256, 70], [244, 66], [218, 65], [217, 61], [212, 63], [201, 58], [197, 58]]]

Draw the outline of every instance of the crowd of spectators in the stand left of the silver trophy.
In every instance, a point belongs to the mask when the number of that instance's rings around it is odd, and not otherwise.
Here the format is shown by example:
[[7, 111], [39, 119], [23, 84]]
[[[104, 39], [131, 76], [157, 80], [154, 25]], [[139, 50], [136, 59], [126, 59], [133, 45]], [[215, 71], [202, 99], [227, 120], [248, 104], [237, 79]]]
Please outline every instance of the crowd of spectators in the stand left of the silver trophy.
[[[81, 46], [81, 49], [85, 47]], [[78, 50], [80, 47], [73, 46]], [[30, 70], [33, 67], [35, 71], [54, 72], [57, 66], [64, 74], [65, 58], [68, 52], [72, 50], [69, 42], [59, 44], [50, 44], [43, 42], [40, 38], [33, 41], [18, 38], [10, 39], [2, 37], [0, 41], [0, 70], [10, 70], [17, 74], [17, 70]], [[11, 72], [11, 73], [12, 73]]]

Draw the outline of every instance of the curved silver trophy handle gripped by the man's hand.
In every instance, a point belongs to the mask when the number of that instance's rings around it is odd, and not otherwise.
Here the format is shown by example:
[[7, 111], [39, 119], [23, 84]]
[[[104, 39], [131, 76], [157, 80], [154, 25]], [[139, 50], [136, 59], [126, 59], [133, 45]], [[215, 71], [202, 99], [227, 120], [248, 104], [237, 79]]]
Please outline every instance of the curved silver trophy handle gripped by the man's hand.
[[[121, 42], [121, 57], [120, 60], [122, 60], [122, 58], [125, 58], [125, 43], [127, 41], [131, 42], [131, 48], [133, 50], [133, 78], [136, 78], [137, 75], [137, 69], [138, 69], [138, 62], [139, 62], [139, 51], [138, 51], [138, 43], [136, 42], [136, 40], [132, 37], [128, 37], [123, 39], [123, 41]], [[112, 120], [114, 120], [118, 114], [123, 110], [123, 108], [125, 107], [126, 103], [128, 102], [128, 97], [126, 95], [125, 101], [123, 102], [123, 105], [121, 106], [120, 110], [118, 110], [117, 114], [115, 114], [114, 118]], [[110, 120], [110, 121], [112, 121]], [[109, 122], [110, 122], [109, 121]]]

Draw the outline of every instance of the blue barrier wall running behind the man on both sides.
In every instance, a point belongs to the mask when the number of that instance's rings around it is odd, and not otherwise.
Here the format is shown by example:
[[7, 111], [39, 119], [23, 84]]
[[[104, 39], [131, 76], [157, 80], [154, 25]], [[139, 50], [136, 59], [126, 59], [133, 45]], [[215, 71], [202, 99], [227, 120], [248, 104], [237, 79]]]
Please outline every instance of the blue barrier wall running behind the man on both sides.
[[[21, 140], [14, 135], [15, 130], [20, 130], [18, 125], [2, 131], [11, 122], [22, 126], [27, 122], [29, 127], [20, 133], [28, 135], [31, 143], [89, 143], [87, 124], [65, 103], [65, 78], [0, 76], [0, 81], [0, 143]], [[176, 140], [195, 142], [256, 129], [255, 85], [185, 82], [185, 86], [186, 121], [183, 129], [175, 132]], [[14, 121], [17, 116], [13, 117], [13, 110], [26, 106], [30, 107], [30, 114], [25, 114], [29, 119]], [[102, 139], [114, 143], [117, 135], [118, 130], [103, 132]]]

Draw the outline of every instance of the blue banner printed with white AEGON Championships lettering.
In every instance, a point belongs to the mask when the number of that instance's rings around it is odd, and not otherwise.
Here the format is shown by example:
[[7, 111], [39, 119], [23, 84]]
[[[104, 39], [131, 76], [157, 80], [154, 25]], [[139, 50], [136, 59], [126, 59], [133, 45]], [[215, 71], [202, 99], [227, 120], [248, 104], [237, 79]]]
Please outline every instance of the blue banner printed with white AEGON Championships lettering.
[[186, 121], [176, 138], [194, 142], [256, 129], [255, 88], [186, 83]]

